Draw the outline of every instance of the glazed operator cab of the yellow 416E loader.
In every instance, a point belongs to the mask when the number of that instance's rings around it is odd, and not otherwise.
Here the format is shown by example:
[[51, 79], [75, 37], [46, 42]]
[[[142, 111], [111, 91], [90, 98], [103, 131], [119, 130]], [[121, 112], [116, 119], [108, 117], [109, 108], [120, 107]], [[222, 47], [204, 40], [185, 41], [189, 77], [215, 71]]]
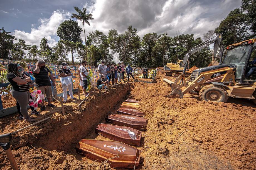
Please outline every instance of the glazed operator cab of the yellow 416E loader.
[[250, 68], [256, 67], [251, 64], [256, 58], [255, 47], [256, 39], [245, 40], [227, 47], [222, 64], [234, 65], [235, 81], [239, 84], [253, 84], [256, 81], [256, 72], [246, 77]]

